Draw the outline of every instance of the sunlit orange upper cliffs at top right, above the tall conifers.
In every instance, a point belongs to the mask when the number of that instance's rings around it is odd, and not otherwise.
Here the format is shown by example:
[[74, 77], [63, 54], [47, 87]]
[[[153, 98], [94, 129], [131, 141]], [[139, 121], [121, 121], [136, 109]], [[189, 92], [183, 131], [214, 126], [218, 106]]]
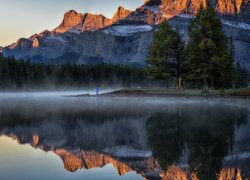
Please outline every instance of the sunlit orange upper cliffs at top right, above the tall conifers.
[[213, 6], [220, 16], [249, 22], [248, 0], [148, 0], [127, 18], [158, 24], [178, 14], [196, 15], [201, 5]]

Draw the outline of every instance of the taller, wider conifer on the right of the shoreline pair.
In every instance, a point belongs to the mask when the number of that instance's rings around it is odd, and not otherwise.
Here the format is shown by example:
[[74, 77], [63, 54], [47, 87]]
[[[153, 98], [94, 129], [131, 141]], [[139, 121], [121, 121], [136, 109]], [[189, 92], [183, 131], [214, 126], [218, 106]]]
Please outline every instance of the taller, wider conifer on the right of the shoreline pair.
[[[213, 8], [200, 8], [189, 26], [187, 79], [203, 81], [203, 89], [232, 85], [233, 56], [222, 23]], [[231, 52], [232, 53], [232, 52]]]

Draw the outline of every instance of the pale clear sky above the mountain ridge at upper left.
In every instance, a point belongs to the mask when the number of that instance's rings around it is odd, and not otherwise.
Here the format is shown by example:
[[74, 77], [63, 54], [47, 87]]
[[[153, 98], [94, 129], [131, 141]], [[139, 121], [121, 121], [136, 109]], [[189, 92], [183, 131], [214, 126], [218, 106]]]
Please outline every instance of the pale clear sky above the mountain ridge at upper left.
[[68, 10], [112, 17], [119, 6], [134, 10], [144, 0], [0, 0], [0, 46], [53, 30]]

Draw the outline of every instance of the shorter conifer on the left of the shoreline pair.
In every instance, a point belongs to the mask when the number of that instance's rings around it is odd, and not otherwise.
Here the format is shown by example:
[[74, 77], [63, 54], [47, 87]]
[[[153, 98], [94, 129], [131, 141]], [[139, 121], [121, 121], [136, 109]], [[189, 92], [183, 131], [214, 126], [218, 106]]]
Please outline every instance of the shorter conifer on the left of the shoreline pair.
[[182, 88], [182, 64], [184, 43], [180, 34], [163, 22], [155, 32], [148, 54], [146, 68], [152, 79], [177, 79], [177, 88]]

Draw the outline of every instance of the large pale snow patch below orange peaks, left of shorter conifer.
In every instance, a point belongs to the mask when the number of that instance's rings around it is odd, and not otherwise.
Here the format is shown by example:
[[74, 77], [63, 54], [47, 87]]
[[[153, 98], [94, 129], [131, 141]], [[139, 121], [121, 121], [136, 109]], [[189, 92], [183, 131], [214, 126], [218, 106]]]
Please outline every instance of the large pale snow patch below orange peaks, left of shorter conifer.
[[150, 25], [115, 25], [104, 29], [103, 32], [114, 36], [130, 36], [134, 33], [148, 32], [152, 29], [153, 27]]

